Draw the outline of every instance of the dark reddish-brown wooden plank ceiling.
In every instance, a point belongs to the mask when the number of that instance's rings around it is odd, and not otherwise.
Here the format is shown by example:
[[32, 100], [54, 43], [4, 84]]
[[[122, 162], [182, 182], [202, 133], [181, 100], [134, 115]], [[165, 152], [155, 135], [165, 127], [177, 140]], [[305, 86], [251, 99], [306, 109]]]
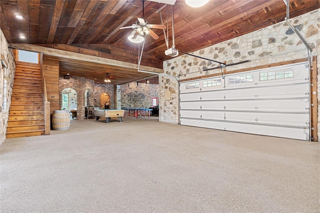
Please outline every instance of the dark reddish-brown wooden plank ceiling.
[[[192, 8], [184, 0], [173, 5], [175, 47], [192, 52], [233, 37], [283, 21], [286, 0], [210, 0]], [[29, 43], [119, 61], [138, 63], [141, 44], [128, 41], [132, 29], [119, 29], [144, 17], [148, 23], [167, 27], [172, 46], [171, 5], [141, 0], [1, 0], [1, 30], [8, 43]], [[320, 0], [289, 0], [289, 17], [320, 8]], [[144, 14], [142, 14], [144, 11]], [[17, 19], [16, 14], [23, 16]], [[162, 68], [166, 56], [162, 29], [158, 36], [146, 36], [141, 65]], [[20, 38], [24, 35], [25, 38]], [[145, 82], [152, 74], [120, 66], [60, 58], [59, 74], [86, 77], [103, 82], [109, 73], [111, 84]], [[155, 81], [157, 79], [155, 78]]]

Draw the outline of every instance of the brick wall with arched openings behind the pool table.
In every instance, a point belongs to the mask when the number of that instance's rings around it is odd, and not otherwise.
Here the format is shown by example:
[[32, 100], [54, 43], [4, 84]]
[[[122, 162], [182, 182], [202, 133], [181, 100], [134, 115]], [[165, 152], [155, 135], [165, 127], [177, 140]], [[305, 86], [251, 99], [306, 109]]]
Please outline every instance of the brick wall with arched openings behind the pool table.
[[110, 107], [114, 107], [114, 90], [113, 85], [94, 83], [93, 80], [86, 79], [84, 77], [69, 77], [64, 79], [63, 76], [59, 76], [59, 99], [61, 106], [61, 92], [64, 88], [73, 88], [77, 95], [77, 118], [84, 119], [85, 112], [85, 97], [84, 92], [88, 90], [87, 105], [93, 105], [99, 107], [100, 95], [107, 92], [110, 96]]

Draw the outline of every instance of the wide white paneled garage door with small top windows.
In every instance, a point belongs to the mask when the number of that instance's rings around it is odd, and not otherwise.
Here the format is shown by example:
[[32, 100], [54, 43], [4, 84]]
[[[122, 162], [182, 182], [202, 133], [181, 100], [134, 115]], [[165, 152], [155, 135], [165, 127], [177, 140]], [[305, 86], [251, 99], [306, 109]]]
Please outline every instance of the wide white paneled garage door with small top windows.
[[309, 140], [307, 62], [181, 82], [180, 124]]

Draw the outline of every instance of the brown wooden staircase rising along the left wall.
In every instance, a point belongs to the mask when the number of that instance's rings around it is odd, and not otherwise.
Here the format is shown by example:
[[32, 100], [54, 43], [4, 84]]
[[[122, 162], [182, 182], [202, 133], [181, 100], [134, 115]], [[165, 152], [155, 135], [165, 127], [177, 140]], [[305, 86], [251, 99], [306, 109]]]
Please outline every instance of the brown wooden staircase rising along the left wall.
[[17, 61], [6, 138], [45, 134], [40, 64]]

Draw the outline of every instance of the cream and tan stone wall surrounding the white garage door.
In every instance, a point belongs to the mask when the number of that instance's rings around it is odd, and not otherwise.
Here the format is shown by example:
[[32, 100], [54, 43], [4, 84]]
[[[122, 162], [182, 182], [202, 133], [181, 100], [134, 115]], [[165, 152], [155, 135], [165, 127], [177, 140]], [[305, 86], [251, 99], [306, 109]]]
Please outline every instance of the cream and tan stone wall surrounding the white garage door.
[[[314, 45], [313, 55], [317, 55], [317, 69], [320, 70], [320, 10], [314, 10], [289, 19], [297, 26], [307, 42]], [[178, 40], [176, 40], [178, 48]], [[306, 58], [307, 51], [298, 36], [285, 21], [200, 49], [191, 54], [227, 64], [250, 60], [250, 62], [226, 67], [226, 71], [252, 68], [297, 58]], [[180, 79], [219, 73], [220, 69], [201, 71], [203, 68], [219, 66], [217, 63], [193, 56], [182, 55], [163, 62], [164, 73]], [[318, 75], [319, 79], [319, 75]], [[318, 80], [318, 90], [320, 88]], [[178, 84], [174, 77], [159, 76], [159, 121], [178, 123]], [[171, 97], [166, 100], [165, 92]], [[318, 95], [319, 99], [319, 95]], [[318, 128], [319, 129], [319, 128]]]

